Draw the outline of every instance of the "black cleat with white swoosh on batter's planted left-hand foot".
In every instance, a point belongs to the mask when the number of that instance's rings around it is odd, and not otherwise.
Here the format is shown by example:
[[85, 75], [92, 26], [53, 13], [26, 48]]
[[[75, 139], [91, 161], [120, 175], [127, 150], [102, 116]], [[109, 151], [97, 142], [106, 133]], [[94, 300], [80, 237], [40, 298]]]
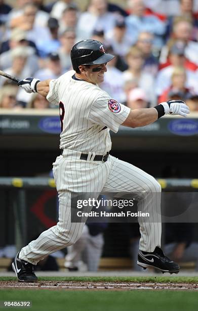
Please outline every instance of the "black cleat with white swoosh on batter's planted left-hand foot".
[[22, 259], [19, 259], [19, 252], [17, 253], [17, 256], [15, 257], [12, 268], [14, 272], [17, 275], [19, 282], [37, 282], [37, 276], [34, 273], [34, 266]]

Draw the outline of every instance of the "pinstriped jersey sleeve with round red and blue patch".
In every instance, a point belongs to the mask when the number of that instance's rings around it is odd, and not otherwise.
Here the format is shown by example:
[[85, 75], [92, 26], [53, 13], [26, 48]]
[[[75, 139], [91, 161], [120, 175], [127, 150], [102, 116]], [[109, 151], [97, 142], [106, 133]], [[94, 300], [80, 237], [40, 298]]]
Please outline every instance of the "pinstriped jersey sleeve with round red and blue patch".
[[129, 107], [111, 99], [107, 93], [103, 92], [93, 101], [88, 119], [117, 133], [119, 126], [127, 119], [130, 110]]

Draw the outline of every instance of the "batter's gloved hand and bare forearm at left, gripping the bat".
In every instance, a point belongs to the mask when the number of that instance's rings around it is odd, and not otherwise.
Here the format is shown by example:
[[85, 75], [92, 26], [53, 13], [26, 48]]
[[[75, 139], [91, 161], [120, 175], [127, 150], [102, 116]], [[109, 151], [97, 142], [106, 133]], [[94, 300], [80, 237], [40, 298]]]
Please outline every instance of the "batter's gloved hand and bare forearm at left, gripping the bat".
[[42, 96], [46, 97], [49, 93], [49, 85], [50, 85], [51, 79], [40, 81], [38, 79], [34, 78], [26, 78], [23, 80], [20, 80], [18, 82], [18, 85], [22, 87], [27, 93], [39, 93]]

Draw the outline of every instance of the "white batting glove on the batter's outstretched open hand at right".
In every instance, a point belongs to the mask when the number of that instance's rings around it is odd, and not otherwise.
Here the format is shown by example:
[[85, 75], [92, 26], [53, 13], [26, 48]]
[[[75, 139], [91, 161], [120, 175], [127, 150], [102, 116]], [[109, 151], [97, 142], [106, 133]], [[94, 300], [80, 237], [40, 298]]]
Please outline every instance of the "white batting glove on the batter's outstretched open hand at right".
[[183, 117], [187, 117], [187, 114], [190, 113], [190, 109], [188, 108], [188, 106], [180, 100], [172, 100], [161, 103], [160, 105], [164, 107], [165, 114], [179, 114]]

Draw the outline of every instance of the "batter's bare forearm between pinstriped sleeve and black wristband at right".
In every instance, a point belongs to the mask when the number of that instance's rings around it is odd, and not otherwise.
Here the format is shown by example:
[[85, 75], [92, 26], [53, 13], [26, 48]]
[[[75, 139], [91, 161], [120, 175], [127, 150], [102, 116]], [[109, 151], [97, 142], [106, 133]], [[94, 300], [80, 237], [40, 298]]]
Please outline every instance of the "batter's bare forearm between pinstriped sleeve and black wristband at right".
[[144, 127], [158, 118], [158, 113], [155, 108], [134, 109], [129, 113], [128, 118], [122, 124], [125, 127], [138, 128]]

